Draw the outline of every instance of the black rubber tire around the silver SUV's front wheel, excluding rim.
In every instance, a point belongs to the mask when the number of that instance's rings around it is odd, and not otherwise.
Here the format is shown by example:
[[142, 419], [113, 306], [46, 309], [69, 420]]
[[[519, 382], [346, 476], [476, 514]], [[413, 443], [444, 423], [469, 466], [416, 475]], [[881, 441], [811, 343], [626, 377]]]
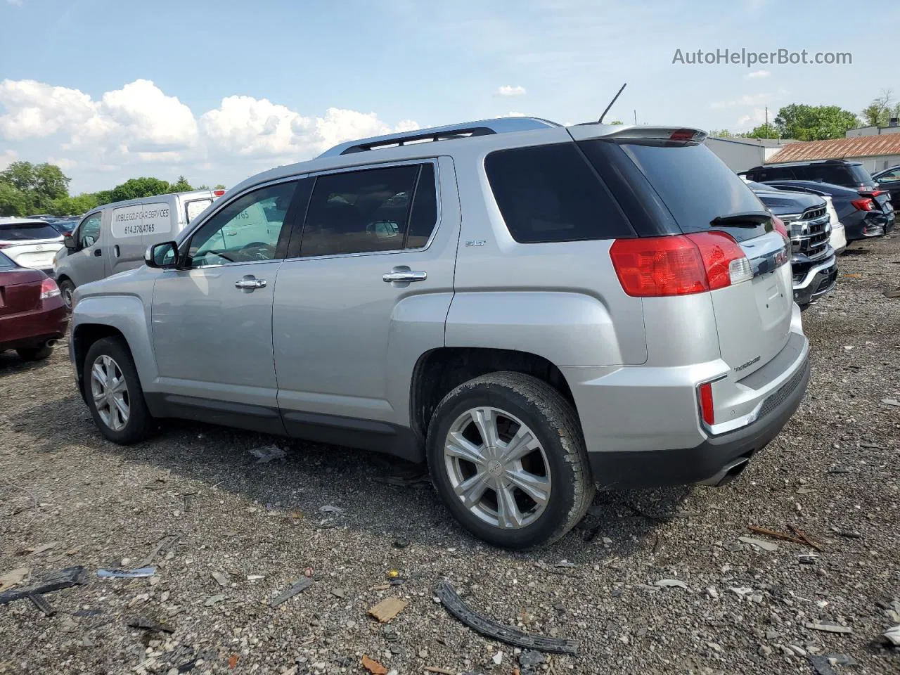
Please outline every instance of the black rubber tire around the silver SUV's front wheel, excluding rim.
[[[118, 366], [121, 376], [124, 378], [127, 387], [129, 416], [122, 428], [112, 428], [108, 425], [97, 410], [97, 403], [94, 401], [94, 395], [91, 383], [91, 370], [94, 363], [101, 356], [109, 356]], [[142, 440], [152, 436], [157, 425], [150, 416], [147, 408], [147, 402], [144, 400], [144, 392], [140, 388], [140, 380], [138, 371], [134, 367], [134, 359], [131, 358], [131, 352], [128, 344], [122, 338], [103, 338], [94, 342], [91, 348], [87, 350], [84, 365], [84, 387], [85, 400], [87, 407], [91, 410], [91, 417], [94, 423], [100, 429], [100, 433], [113, 443], [121, 446], [130, 446], [139, 443]]]

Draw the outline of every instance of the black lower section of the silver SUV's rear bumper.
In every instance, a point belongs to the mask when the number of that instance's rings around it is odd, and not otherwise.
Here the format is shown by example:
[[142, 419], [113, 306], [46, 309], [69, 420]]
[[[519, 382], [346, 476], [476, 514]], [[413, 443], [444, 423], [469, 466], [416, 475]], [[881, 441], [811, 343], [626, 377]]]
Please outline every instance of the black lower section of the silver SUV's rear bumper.
[[[603, 487], [644, 489], [705, 482], [740, 460], [749, 460], [779, 435], [797, 410], [809, 383], [809, 358], [770, 396], [770, 411], [751, 425], [708, 437], [698, 446], [676, 450], [589, 453], [594, 480]], [[769, 401], [773, 401], [771, 404]]]

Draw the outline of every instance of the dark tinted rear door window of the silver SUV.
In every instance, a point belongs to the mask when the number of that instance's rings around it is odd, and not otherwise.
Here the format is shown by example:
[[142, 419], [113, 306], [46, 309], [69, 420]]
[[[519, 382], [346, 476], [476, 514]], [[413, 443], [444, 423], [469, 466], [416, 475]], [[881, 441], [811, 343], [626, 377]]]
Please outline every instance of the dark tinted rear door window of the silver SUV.
[[306, 214], [300, 255], [402, 249], [418, 175], [419, 165], [320, 175]]

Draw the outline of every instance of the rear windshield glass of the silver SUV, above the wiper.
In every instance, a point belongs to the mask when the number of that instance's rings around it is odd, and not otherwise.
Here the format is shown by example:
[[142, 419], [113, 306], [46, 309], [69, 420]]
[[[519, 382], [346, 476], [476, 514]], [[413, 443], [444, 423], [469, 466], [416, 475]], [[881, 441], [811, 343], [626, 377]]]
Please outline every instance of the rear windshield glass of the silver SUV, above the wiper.
[[618, 145], [659, 193], [681, 231], [720, 229], [743, 241], [771, 229], [770, 224], [713, 225], [716, 218], [767, 211], [747, 184], [705, 145], [652, 140]]

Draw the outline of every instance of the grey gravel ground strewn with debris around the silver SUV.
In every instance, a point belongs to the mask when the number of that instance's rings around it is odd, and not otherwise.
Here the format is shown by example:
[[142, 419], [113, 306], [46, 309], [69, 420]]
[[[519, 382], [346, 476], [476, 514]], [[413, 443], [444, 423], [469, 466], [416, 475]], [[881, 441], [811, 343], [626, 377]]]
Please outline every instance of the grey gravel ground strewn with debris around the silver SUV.
[[[436, 603], [443, 579], [488, 617], [580, 643], [535, 672], [809, 673], [826, 654], [856, 662], [834, 672], [897, 672], [878, 636], [900, 623], [900, 408], [881, 402], [900, 399], [900, 300], [883, 296], [900, 238], [856, 245], [841, 267], [805, 314], [806, 401], [740, 480], [601, 493], [581, 527], [525, 554], [467, 536], [428, 483], [392, 484], [417, 467], [377, 455], [188, 423], [113, 446], [64, 349], [41, 365], [0, 355], [0, 574], [84, 565], [88, 580], [44, 596], [51, 617], [27, 599], [0, 607], [0, 673], [355, 673], [364, 654], [399, 673], [514, 672], [513, 648]], [[285, 460], [254, 464], [272, 444]], [[739, 540], [788, 524], [822, 543], [818, 558]], [[97, 578], [167, 537], [154, 577]], [[385, 587], [391, 571], [405, 583]], [[307, 573], [308, 589], [266, 604]], [[653, 586], [666, 579], [684, 588]], [[390, 597], [409, 604], [379, 625], [367, 610]], [[127, 626], [139, 617], [174, 632]]]

